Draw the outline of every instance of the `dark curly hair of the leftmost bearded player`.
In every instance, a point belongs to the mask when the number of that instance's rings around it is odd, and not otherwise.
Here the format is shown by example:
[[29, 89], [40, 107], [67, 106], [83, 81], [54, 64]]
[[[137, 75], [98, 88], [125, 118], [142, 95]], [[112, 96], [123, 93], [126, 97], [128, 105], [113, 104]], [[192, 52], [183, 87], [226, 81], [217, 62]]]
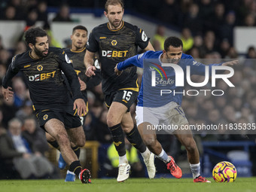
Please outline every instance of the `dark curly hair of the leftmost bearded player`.
[[47, 33], [44, 31], [44, 29], [41, 29], [40, 27], [31, 27], [25, 32], [25, 41], [27, 45], [35, 45], [35, 38], [45, 36], [47, 36]]

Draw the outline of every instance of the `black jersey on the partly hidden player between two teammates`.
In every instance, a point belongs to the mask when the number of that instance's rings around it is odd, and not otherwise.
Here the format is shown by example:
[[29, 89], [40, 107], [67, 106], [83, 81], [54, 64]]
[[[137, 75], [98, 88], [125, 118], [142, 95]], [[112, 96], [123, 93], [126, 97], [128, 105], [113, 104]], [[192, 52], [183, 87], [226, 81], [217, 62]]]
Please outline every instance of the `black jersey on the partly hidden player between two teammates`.
[[[84, 54], [86, 52], [86, 48], [84, 47], [83, 50], [71, 50], [70, 48], [65, 49], [65, 53], [69, 56], [70, 61], [72, 62], [73, 68], [75, 69], [76, 74], [81, 79], [81, 81], [84, 81], [84, 83], [87, 84], [87, 89], [90, 89], [91, 87], [95, 87], [98, 85], [101, 81], [101, 75], [99, 70], [99, 61], [98, 59], [94, 59], [94, 65], [96, 66], [96, 75], [93, 75], [93, 77], [88, 78], [87, 75], [85, 75], [86, 67], [84, 66]], [[87, 101], [87, 89], [82, 91], [84, 100]]]

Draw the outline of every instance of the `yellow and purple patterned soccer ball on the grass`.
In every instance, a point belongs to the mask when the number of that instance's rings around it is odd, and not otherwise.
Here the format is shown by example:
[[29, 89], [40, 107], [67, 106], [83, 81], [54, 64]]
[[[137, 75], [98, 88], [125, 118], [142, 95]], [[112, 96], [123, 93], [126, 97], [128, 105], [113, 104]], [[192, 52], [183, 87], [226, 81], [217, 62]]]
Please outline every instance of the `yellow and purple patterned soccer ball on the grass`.
[[222, 161], [212, 169], [212, 177], [216, 182], [233, 182], [236, 180], [236, 167], [232, 163]]

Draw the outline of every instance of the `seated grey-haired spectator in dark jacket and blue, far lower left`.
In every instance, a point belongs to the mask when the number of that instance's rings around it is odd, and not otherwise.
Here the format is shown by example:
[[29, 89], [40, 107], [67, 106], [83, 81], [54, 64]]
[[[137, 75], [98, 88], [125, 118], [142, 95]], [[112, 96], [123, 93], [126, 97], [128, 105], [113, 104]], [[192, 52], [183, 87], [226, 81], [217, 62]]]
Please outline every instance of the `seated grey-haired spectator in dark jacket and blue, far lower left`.
[[12, 119], [8, 123], [8, 133], [0, 138], [0, 154], [5, 163], [14, 163], [21, 178], [44, 178], [53, 172], [53, 166], [33, 150], [33, 141], [22, 135], [22, 123]]

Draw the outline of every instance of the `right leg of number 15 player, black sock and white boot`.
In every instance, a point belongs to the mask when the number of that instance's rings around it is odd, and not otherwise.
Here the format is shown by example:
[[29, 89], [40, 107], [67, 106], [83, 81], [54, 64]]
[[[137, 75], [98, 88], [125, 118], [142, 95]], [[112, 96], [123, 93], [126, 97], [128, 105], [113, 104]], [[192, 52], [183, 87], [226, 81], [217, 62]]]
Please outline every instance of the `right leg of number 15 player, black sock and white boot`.
[[145, 143], [142, 141], [142, 136], [139, 134], [139, 130], [136, 124], [134, 124], [130, 112], [126, 112], [126, 114], [123, 115], [121, 126], [123, 131], [126, 133], [126, 138], [128, 141], [142, 154], [148, 170], [148, 177], [154, 178], [156, 174], [156, 167], [154, 166], [154, 154], [148, 150]]

